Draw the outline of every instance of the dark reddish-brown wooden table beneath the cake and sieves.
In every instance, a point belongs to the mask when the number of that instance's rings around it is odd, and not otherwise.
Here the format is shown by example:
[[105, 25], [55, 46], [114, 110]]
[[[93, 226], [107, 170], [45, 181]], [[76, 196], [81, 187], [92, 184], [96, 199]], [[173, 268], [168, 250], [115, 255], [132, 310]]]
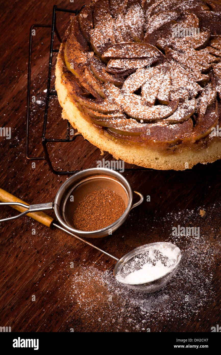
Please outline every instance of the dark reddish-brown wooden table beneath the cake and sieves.
[[[25, 158], [29, 29], [33, 23], [50, 24], [53, 5], [51, 1], [1, 2], [1, 127], [11, 127], [11, 139], [0, 137], [0, 186], [28, 203], [53, 201], [67, 179], [52, 174], [44, 160], [33, 168]], [[56, 5], [79, 9], [83, 2], [57, 1]], [[69, 15], [59, 16], [62, 35]], [[31, 103], [31, 155], [43, 155], [49, 44], [50, 29], [37, 29], [33, 39], [31, 95], [36, 102]], [[56, 45], [58, 48], [57, 39]], [[64, 138], [65, 130], [66, 122], [53, 97], [47, 135]], [[72, 143], [51, 144], [49, 152], [53, 166], [63, 170], [94, 167], [101, 158], [111, 160], [107, 153], [101, 157], [99, 149], [82, 137]], [[0, 239], [0, 326], [28, 332], [210, 332], [221, 322], [220, 162], [183, 172], [134, 170], [123, 175], [134, 190], [143, 193], [144, 202], [112, 236], [94, 239], [94, 244], [121, 257], [149, 242], [175, 242], [183, 252], [177, 275], [159, 292], [136, 294], [115, 282], [113, 260], [66, 233], [28, 217], [5, 222]], [[204, 217], [200, 209], [206, 211]], [[13, 213], [10, 207], [2, 208], [0, 215]], [[49, 214], [53, 216], [53, 212]], [[178, 225], [199, 227], [199, 238], [172, 236], [172, 227]]]

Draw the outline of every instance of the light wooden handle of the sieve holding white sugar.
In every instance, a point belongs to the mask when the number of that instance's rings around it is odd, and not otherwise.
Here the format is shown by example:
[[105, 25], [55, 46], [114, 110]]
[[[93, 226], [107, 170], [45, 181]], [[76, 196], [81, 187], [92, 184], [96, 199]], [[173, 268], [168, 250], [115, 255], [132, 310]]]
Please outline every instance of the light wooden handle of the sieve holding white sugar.
[[[27, 206], [29, 206], [29, 204], [27, 202], [24, 202], [22, 200], [20, 200], [20, 198], [17, 198], [13, 195], [11, 195], [11, 193], [5, 191], [5, 190], [2, 190], [0, 188], [0, 201], [1, 202], [20, 202], [20, 203], [24, 203], [26, 204]], [[17, 211], [20, 211], [20, 212], [24, 212], [24, 211], [27, 211], [27, 209], [25, 207], [22, 207], [22, 206], [15, 206], [13, 205], [13, 203], [10, 205], [12, 208], [14, 209], [17, 209]], [[28, 217], [31, 217], [33, 219], [35, 219], [36, 221], [46, 225], [47, 227], [50, 227], [52, 222], [53, 222], [53, 218], [50, 217], [49, 215], [47, 215], [46, 213], [44, 212], [32, 212], [32, 213], [27, 213], [27, 216]]]

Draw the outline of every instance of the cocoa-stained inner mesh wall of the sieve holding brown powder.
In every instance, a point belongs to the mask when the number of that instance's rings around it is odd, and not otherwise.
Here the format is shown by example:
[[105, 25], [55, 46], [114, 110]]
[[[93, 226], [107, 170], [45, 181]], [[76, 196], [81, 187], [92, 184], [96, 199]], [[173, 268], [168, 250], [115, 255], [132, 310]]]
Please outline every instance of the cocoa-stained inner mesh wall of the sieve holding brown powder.
[[85, 196], [89, 195], [89, 193], [102, 189], [109, 189], [116, 192], [121, 196], [127, 208], [129, 194], [122, 182], [108, 175], [94, 175], [93, 177], [86, 178], [80, 181], [77, 185], [74, 185], [63, 200], [62, 217], [70, 227], [74, 228], [73, 214], [78, 203], [83, 200]]

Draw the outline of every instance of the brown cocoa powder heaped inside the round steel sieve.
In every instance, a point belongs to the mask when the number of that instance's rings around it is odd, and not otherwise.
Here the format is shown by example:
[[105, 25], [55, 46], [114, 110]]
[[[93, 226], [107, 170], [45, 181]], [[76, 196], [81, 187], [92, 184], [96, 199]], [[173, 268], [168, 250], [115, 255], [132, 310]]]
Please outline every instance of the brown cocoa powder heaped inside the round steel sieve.
[[93, 231], [114, 223], [125, 211], [122, 197], [108, 189], [89, 193], [78, 203], [73, 215], [74, 228]]

